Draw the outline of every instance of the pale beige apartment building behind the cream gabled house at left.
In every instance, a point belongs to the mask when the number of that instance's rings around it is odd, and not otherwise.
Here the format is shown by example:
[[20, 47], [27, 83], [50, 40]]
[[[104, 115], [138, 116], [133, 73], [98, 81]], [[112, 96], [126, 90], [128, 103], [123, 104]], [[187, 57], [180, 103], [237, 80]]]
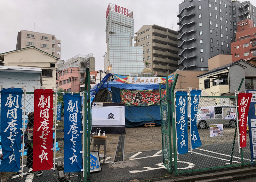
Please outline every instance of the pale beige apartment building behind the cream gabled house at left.
[[21, 30], [18, 32], [16, 49], [34, 46], [60, 59], [60, 40], [55, 35]]

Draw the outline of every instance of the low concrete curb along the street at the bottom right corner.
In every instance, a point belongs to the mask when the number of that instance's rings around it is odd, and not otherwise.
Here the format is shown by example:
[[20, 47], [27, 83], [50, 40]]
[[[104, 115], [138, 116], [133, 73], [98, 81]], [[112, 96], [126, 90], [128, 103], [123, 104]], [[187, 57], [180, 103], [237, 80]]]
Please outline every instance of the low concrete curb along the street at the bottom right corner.
[[256, 168], [243, 168], [230, 171], [215, 172], [202, 175], [194, 175], [188, 177], [174, 177], [158, 182], [228, 182], [238, 179], [246, 179], [256, 177]]

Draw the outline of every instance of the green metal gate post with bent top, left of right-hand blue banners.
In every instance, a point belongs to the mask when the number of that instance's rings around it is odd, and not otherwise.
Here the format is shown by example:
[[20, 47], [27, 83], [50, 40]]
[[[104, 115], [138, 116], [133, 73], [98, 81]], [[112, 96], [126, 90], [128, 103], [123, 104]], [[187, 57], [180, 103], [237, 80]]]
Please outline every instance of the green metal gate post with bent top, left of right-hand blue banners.
[[[172, 141], [173, 141], [173, 155], [174, 155], [174, 165], [173, 165], [173, 169], [174, 169], [174, 175], [177, 176], [178, 175], [178, 167], [177, 167], [177, 148], [176, 148], [176, 124], [175, 124], [175, 100], [174, 100], [174, 89], [178, 80], [179, 74], [175, 74], [174, 77], [174, 81], [172, 84], [172, 89], [171, 89], [171, 110], [172, 110]], [[171, 132], [171, 131], [170, 131]]]

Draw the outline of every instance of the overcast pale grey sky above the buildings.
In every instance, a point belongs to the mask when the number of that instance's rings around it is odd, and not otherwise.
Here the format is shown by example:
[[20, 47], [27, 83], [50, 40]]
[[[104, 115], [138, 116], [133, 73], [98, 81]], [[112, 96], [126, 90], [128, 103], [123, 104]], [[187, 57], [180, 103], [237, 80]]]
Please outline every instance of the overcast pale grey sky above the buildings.
[[[157, 4], [161, 4], [156, 6]], [[134, 31], [143, 25], [177, 30], [181, 0], [0, 0], [0, 53], [16, 49], [18, 31], [55, 34], [61, 40], [61, 59], [93, 53], [95, 70], [103, 69], [106, 44], [106, 10], [109, 3], [133, 11]], [[164, 15], [166, 21], [164, 21]]]

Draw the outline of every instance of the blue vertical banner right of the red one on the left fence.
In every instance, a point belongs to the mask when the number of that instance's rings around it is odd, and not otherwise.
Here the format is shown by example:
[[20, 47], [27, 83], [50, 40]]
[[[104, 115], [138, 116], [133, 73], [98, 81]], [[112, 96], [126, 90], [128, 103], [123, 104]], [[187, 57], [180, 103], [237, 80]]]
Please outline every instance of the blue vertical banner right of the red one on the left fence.
[[64, 172], [77, 172], [82, 167], [81, 96], [65, 94], [64, 99]]

